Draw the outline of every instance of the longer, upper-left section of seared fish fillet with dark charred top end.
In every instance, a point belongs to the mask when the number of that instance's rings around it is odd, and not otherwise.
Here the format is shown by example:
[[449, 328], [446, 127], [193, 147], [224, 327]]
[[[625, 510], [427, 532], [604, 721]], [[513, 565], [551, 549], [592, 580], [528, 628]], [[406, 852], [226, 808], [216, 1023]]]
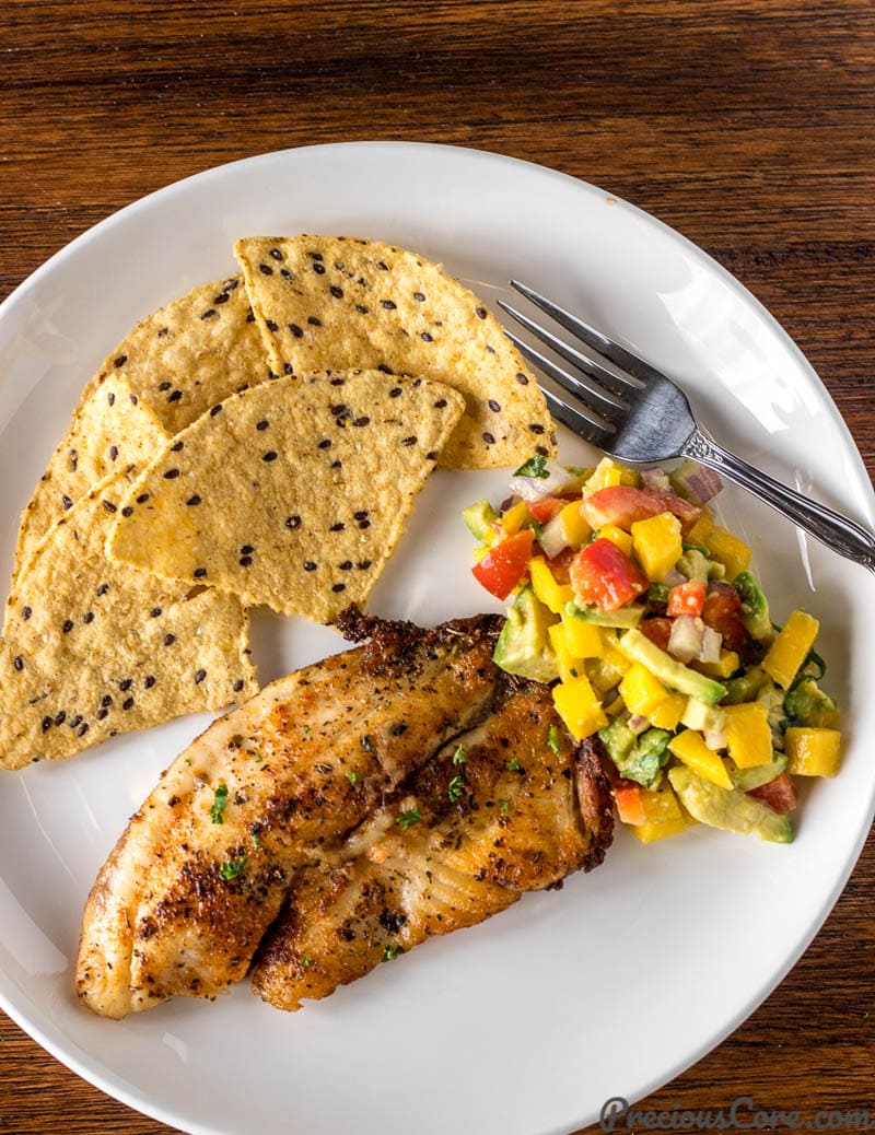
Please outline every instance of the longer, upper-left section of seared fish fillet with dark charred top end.
[[483, 718], [503, 675], [500, 617], [422, 630], [340, 617], [363, 647], [280, 679], [214, 722], [162, 774], [85, 908], [77, 991], [120, 1018], [212, 997], [249, 970], [295, 873], [447, 740]]

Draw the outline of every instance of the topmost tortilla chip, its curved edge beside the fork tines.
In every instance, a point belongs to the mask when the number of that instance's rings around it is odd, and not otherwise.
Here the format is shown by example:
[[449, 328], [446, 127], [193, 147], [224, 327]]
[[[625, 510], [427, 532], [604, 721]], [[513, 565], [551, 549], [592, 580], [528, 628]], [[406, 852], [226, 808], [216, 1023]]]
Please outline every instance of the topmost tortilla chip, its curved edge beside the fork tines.
[[554, 454], [535, 377], [483, 304], [439, 266], [352, 237], [249, 237], [235, 254], [276, 373], [376, 368], [446, 382], [465, 413], [449, 469]]

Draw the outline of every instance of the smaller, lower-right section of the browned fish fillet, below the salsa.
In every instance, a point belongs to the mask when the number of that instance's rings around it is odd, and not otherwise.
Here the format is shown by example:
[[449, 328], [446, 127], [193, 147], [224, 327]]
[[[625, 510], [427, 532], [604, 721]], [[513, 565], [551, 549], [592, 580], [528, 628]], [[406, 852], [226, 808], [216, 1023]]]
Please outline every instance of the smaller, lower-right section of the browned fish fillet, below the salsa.
[[297, 1009], [434, 934], [595, 867], [613, 834], [597, 745], [575, 745], [546, 687], [511, 684], [482, 724], [353, 833], [350, 863], [298, 872], [259, 951], [255, 992]]

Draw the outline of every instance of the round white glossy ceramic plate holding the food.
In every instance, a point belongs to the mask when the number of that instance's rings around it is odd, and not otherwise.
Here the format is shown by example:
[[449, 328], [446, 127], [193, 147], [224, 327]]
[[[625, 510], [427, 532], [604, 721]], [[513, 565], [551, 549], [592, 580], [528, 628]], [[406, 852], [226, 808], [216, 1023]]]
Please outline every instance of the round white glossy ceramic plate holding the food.
[[[50, 260], [0, 310], [0, 568], [17, 511], [78, 393], [142, 316], [234, 270], [238, 236], [343, 233], [444, 261], [487, 301], [511, 276], [552, 292], [683, 380], [722, 442], [873, 523], [873, 494], [819, 381], [760, 305], [631, 205], [505, 158], [369, 143], [267, 154], [123, 210]], [[567, 435], [563, 452], [575, 454]], [[463, 504], [503, 474], [428, 485], [380, 581], [378, 614], [434, 622], [490, 606], [469, 570]], [[67, 764], [0, 774], [0, 1003], [50, 1052], [134, 1108], [192, 1133], [566, 1132], [636, 1099], [732, 1032], [806, 948], [873, 816], [875, 581], [740, 491], [782, 619], [822, 620], [847, 707], [842, 775], [806, 793], [789, 847], [697, 827], [561, 893], [432, 941], [289, 1016], [246, 986], [113, 1024], [78, 1007], [71, 966], [94, 875], [158, 772], [205, 724], [118, 738]], [[263, 680], [339, 647], [300, 620], [256, 620]]]

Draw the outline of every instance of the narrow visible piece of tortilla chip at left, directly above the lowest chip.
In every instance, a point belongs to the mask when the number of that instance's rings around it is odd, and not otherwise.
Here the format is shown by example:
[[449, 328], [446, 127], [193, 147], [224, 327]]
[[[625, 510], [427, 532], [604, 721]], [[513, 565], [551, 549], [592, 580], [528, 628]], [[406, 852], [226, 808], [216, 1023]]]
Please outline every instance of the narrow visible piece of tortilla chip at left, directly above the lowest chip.
[[107, 375], [74, 414], [69, 432], [22, 513], [12, 587], [56, 520], [115, 470], [146, 464], [167, 437], [127, 379], [121, 373]]

